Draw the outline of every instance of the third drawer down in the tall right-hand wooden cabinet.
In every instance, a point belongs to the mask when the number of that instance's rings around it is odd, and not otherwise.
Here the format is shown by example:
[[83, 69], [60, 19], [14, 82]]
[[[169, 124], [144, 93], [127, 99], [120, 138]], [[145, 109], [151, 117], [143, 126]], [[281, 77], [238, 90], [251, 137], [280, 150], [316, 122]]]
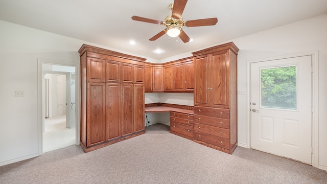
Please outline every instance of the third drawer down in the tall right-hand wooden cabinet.
[[229, 129], [195, 123], [194, 130], [229, 140]]

